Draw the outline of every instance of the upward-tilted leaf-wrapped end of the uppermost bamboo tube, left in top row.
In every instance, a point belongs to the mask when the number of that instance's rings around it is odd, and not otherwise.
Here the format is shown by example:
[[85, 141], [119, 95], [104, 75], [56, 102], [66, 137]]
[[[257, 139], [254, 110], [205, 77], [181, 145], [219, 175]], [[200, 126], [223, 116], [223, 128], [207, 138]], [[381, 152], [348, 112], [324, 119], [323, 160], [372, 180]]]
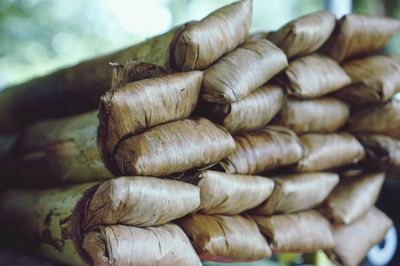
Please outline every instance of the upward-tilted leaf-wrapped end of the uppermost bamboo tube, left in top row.
[[204, 69], [247, 38], [252, 1], [241, 0], [222, 7], [180, 35], [175, 47], [177, 68]]

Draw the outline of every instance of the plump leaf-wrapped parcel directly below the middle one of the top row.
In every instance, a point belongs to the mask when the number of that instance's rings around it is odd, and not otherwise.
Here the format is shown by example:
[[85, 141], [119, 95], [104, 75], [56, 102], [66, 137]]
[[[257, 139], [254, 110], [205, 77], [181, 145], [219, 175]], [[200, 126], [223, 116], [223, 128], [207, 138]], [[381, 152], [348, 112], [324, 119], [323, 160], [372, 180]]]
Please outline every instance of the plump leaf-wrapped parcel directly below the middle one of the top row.
[[289, 95], [308, 99], [337, 91], [351, 79], [333, 59], [311, 54], [292, 61], [282, 82]]

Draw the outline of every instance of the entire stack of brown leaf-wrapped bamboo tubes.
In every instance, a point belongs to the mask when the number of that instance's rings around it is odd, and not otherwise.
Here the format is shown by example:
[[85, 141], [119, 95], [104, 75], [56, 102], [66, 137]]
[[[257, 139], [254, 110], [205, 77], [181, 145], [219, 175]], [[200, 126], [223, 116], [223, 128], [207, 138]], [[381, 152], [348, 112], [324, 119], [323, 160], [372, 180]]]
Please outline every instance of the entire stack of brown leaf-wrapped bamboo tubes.
[[374, 205], [400, 169], [400, 60], [372, 54], [400, 23], [317, 12], [249, 37], [251, 14], [241, 0], [1, 93], [3, 132], [99, 106], [0, 158], [25, 186], [1, 193], [4, 233], [71, 265], [359, 264], [392, 226]]

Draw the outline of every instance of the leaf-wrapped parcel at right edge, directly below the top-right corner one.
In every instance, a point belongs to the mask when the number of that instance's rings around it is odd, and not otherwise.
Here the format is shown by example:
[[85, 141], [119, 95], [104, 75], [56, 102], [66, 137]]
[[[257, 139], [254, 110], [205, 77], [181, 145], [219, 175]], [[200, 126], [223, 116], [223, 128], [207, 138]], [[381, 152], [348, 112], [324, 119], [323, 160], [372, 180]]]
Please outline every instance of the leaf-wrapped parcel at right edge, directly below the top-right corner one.
[[374, 55], [345, 63], [351, 84], [336, 93], [351, 104], [385, 102], [400, 91], [400, 59]]

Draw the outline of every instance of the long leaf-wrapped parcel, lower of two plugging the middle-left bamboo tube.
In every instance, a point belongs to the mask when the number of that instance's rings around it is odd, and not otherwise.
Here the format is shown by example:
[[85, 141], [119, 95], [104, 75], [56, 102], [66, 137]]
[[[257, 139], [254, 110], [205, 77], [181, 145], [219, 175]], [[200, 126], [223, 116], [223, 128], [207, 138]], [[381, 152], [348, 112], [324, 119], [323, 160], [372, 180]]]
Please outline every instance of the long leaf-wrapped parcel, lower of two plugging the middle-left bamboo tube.
[[125, 174], [165, 176], [218, 162], [234, 149], [224, 128], [204, 118], [185, 119], [127, 138], [114, 159]]

